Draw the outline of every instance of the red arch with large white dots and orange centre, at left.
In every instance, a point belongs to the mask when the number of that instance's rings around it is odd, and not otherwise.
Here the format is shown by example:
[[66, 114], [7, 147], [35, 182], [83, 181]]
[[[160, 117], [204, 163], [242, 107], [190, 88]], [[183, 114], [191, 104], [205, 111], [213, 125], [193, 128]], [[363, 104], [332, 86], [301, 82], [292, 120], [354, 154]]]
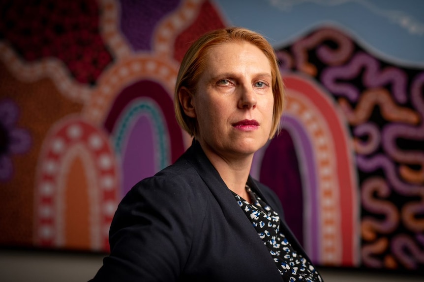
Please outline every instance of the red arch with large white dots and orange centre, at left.
[[34, 243], [108, 251], [119, 200], [116, 163], [105, 132], [76, 116], [57, 123], [37, 166]]

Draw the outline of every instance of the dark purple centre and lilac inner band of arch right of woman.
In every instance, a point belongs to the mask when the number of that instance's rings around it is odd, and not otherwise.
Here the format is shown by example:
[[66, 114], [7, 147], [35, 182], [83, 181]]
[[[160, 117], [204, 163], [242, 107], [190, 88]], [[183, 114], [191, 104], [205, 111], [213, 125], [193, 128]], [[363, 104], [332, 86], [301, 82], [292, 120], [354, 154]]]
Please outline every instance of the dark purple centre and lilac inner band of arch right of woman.
[[[287, 224], [301, 244], [307, 247], [308, 256], [316, 262], [319, 259], [320, 229], [314, 151], [307, 132], [297, 119], [284, 116], [283, 128], [287, 130], [279, 135], [280, 140], [273, 139], [270, 143], [273, 146], [266, 148], [260, 180], [278, 195]], [[302, 191], [306, 197], [302, 195]], [[307, 208], [301, 210], [302, 203], [308, 205]], [[305, 217], [302, 216], [303, 212], [308, 212]], [[303, 218], [309, 219], [308, 234], [304, 234], [306, 230], [303, 231], [302, 228]], [[304, 240], [308, 243], [305, 244]]]

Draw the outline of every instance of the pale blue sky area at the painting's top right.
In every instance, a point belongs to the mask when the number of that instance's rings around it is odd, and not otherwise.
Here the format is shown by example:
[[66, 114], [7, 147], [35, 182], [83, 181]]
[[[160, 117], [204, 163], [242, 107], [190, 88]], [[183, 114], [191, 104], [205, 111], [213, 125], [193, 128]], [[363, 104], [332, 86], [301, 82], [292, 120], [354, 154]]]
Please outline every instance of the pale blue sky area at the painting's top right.
[[424, 0], [213, 0], [230, 26], [261, 32], [275, 48], [318, 26], [345, 30], [381, 59], [424, 66]]

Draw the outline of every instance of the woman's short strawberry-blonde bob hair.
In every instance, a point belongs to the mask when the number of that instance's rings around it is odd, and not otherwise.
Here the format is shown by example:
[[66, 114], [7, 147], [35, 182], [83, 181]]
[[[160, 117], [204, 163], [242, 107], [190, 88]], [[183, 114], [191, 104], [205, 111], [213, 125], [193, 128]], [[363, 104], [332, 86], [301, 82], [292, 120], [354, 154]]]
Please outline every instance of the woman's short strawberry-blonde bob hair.
[[273, 138], [278, 131], [280, 118], [284, 108], [284, 85], [278, 69], [278, 62], [271, 44], [259, 33], [242, 27], [229, 27], [213, 30], [197, 39], [185, 53], [178, 72], [174, 93], [175, 116], [178, 124], [191, 136], [198, 132], [195, 118], [185, 115], [180, 104], [179, 92], [186, 87], [191, 93], [196, 93], [199, 81], [206, 66], [208, 51], [214, 46], [225, 43], [248, 42], [258, 47], [268, 57], [271, 65], [272, 88], [274, 96], [273, 124], [269, 138]]

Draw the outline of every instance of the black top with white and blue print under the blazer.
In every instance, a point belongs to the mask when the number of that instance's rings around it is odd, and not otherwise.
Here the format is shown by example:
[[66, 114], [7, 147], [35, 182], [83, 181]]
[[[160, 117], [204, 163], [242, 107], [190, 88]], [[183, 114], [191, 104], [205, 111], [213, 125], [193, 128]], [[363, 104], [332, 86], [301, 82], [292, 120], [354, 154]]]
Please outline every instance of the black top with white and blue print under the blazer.
[[298, 254], [279, 231], [280, 217], [250, 187], [246, 186], [252, 204], [234, 194], [237, 203], [264, 241], [284, 282], [322, 282], [321, 276], [302, 255]]

